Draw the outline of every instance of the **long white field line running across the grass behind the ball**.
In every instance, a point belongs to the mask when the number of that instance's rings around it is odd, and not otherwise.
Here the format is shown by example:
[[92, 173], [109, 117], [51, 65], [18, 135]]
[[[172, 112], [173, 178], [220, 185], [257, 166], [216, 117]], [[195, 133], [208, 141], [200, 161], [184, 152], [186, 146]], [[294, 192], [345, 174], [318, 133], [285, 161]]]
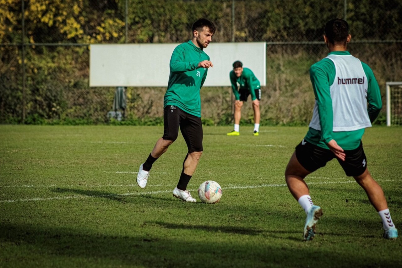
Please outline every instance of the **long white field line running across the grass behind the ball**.
[[[379, 180], [378, 180], [379, 181]], [[394, 181], [392, 179], [386, 179], [382, 181]], [[307, 183], [308, 185], [317, 185], [317, 184], [341, 184], [341, 183], [355, 183], [356, 181], [320, 181], [320, 182], [310, 182]], [[261, 184], [261, 185], [246, 185], [246, 186], [226, 186], [224, 190], [232, 190], [232, 189], [253, 189], [253, 188], [266, 188], [266, 187], [285, 187], [286, 184]], [[135, 192], [135, 193], [126, 193], [126, 194], [107, 194], [107, 195], [74, 195], [74, 196], [54, 196], [49, 198], [27, 198], [27, 199], [19, 199], [19, 200], [0, 200], [0, 203], [12, 203], [12, 202], [30, 202], [30, 201], [46, 201], [46, 200], [62, 200], [62, 199], [74, 199], [74, 198], [89, 198], [89, 197], [119, 197], [119, 196], [142, 196], [142, 195], [149, 195], [149, 194], [162, 194], [162, 193], [169, 193], [172, 190], [164, 190], [164, 191], [152, 191], [152, 192]], [[191, 189], [192, 192], [197, 192], [197, 189]]]

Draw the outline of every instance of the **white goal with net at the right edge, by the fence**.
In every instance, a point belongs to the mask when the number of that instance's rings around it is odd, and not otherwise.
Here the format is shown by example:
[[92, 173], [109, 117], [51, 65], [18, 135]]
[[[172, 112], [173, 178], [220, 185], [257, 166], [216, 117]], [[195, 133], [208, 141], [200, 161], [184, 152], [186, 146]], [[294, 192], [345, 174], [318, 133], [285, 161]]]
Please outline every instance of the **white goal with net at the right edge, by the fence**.
[[386, 82], [387, 126], [402, 126], [402, 82]]

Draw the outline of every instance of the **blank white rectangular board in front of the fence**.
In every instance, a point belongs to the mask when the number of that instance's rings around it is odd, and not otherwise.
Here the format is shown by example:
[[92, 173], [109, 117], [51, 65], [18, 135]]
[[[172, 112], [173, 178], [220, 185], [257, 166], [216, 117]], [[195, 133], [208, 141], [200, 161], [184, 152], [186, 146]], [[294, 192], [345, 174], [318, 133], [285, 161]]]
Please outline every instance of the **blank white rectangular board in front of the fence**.
[[[178, 43], [95, 44], [90, 46], [90, 87], [166, 87], [169, 62]], [[204, 87], [230, 86], [229, 72], [236, 60], [250, 68], [266, 85], [266, 43], [210, 43], [205, 48], [213, 68]]]

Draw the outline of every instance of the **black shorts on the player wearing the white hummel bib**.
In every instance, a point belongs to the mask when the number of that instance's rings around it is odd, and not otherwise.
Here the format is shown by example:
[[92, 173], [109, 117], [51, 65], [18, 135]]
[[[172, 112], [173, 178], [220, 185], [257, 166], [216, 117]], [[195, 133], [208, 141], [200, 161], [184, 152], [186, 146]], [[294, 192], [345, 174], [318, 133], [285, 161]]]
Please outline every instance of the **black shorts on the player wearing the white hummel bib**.
[[359, 176], [367, 168], [367, 159], [363, 150], [363, 143], [353, 150], [345, 150], [345, 161], [335, 157], [329, 149], [311, 144], [304, 139], [296, 146], [297, 161], [308, 171], [313, 172], [324, 167], [333, 158], [338, 160], [347, 176]]

